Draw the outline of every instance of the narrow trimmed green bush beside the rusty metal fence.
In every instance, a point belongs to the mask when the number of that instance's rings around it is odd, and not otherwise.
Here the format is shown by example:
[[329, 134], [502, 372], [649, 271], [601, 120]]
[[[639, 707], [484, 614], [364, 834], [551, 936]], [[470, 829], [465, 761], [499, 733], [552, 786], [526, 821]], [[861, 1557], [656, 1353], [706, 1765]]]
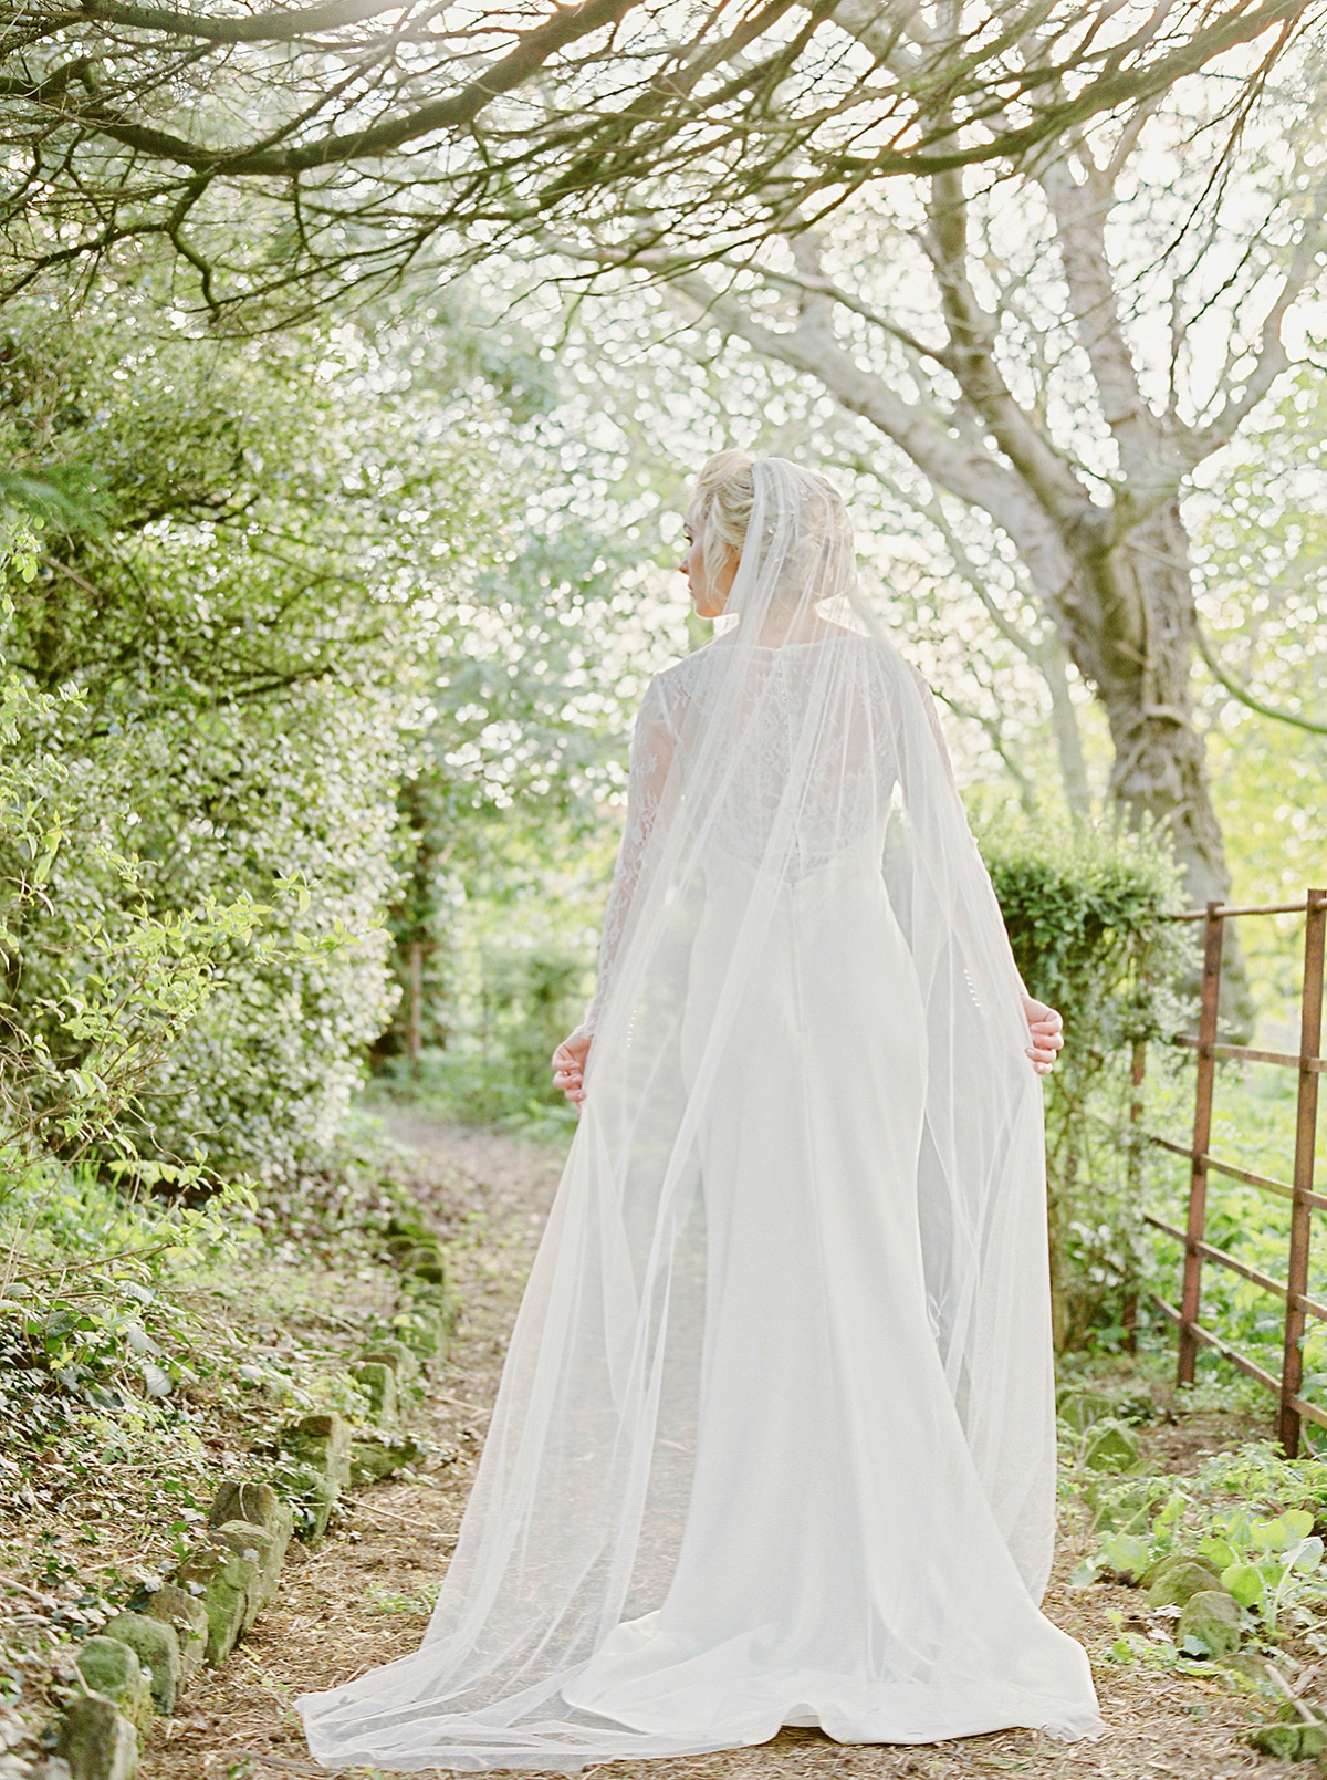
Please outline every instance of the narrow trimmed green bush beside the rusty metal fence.
[[1046, 1082], [1046, 1173], [1057, 1346], [1119, 1340], [1137, 1315], [1142, 1157], [1135, 1045], [1183, 1016], [1192, 936], [1160, 835], [989, 821], [978, 844], [1023, 981], [1058, 1007], [1066, 1048]]

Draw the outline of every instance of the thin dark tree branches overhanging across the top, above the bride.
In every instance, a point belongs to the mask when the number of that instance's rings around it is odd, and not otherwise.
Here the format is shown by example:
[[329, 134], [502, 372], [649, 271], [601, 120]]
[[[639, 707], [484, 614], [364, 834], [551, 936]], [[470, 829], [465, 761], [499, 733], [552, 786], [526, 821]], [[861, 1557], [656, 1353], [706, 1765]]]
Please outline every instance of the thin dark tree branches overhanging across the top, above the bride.
[[1256, 89], [1320, 9], [2, 0], [0, 294], [157, 239], [215, 313], [288, 312], [559, 217], [708, 258], [879, 180], [1009, 167], [1240, 46]]

